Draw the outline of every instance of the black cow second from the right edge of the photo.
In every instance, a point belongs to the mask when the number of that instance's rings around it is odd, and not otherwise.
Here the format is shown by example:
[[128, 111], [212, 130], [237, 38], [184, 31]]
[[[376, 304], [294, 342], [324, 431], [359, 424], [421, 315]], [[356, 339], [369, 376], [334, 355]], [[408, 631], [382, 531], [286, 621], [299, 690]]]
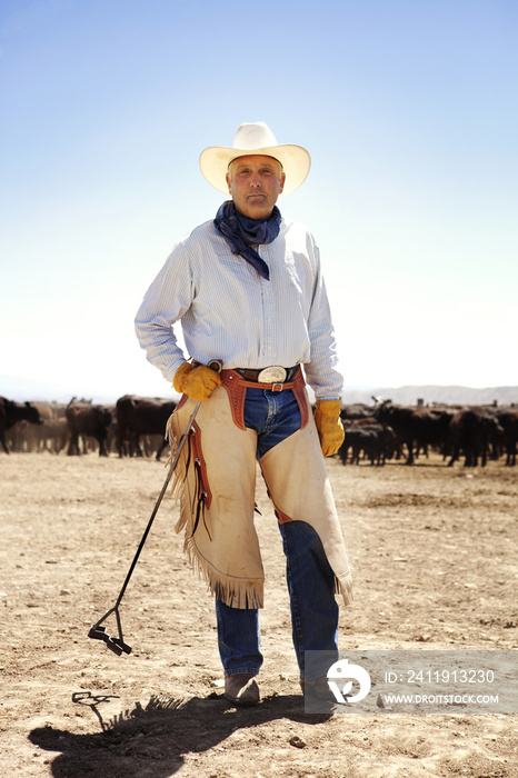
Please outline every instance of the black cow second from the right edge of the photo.
[[451, 467], [460, 456], [465, 456], [465, 467], [477, 467], [480, 458], [482, 467], [487, 463], [489, 447], [498, 445], [504, 436], [504, 429], [494, 413], [485, 408], [465, 408], [451, 419], [452, 455], [448, 462]]

